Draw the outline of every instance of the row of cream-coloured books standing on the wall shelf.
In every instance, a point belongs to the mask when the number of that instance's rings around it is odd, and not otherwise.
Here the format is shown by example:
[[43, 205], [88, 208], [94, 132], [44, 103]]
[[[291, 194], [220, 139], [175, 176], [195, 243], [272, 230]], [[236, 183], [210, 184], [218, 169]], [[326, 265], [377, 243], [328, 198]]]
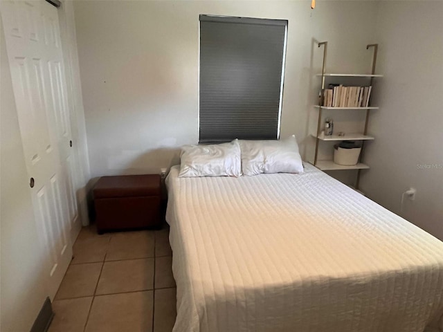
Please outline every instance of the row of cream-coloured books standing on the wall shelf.
[[323, 91], [325, 107], [369, 107], [372, 86], [343, 86], [329, 84]]

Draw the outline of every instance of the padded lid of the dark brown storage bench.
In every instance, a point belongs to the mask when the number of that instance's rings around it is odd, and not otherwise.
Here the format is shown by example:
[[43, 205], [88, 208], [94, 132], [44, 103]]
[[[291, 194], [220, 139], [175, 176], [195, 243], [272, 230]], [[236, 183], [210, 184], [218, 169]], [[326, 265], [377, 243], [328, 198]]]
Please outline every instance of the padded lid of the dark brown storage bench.
[[102, 176], [93, 189], [94, 199], [113, 197], [159, 196], [160, 175]]

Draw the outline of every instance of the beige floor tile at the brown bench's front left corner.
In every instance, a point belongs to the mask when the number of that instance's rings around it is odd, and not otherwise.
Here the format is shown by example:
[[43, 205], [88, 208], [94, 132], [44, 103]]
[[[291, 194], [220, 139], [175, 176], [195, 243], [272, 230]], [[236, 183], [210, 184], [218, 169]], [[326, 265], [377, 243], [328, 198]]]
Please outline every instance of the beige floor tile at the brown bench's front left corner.
[[105, 261], [110, 237], [91, 237], [77, 239], [73, 246], [73, 260], [71, 264], [94, 263]]

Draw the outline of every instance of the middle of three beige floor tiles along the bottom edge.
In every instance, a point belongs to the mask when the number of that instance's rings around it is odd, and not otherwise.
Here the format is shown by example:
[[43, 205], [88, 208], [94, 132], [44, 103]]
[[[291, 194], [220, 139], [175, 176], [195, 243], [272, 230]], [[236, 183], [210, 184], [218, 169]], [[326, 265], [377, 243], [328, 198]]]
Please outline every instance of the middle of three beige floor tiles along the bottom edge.
[[153, 291], [94, 297], [86, 332], [152, 332]]

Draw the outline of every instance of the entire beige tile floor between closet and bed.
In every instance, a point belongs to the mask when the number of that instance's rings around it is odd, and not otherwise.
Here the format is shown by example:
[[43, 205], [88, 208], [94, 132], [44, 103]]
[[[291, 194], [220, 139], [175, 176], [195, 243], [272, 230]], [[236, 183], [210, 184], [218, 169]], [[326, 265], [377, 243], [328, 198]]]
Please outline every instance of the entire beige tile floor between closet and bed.
[[82, 228], [49, 332], [170, 332], [176, 317], [169, 230]]

